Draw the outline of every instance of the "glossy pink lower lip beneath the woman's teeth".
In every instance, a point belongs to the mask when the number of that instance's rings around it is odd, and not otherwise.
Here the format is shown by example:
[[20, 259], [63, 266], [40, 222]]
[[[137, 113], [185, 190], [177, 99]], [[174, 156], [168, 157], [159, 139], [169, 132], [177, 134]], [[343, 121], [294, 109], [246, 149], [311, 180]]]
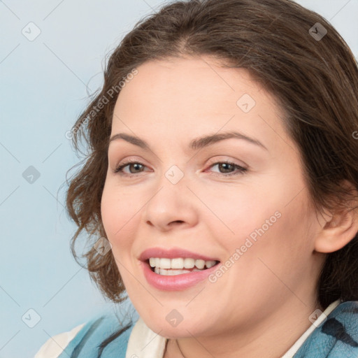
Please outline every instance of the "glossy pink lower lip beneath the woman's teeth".
[[143, 272], [146, 280], [152, 286], [164, 291], [177, 291], [180, 289], [187, 289], [196, 285], [197, 283], [206, 280], [210, 273], [217, 269], [219, 264], [213, 267], [206, 268], [203, 271], [192, 271], [191, 273], [182, 273], [180, 275], [159, 275], [150, 268], [148, 262], [141, 262]]

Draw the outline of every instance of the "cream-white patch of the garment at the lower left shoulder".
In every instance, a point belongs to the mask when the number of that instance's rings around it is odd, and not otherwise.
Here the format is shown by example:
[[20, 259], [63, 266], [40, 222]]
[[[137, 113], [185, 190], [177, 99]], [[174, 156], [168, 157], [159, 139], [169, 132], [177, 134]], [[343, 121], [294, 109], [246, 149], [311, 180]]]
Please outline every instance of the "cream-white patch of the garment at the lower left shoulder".
[[71, 329], [61, 334], [57, 334], [51, 338], [48, 338], [36, 353], [34, 358], [57, 358], [64, 351], [66, 346], [75, 338], [76, 334], [85, 324], [80, 324], [79, 326]]

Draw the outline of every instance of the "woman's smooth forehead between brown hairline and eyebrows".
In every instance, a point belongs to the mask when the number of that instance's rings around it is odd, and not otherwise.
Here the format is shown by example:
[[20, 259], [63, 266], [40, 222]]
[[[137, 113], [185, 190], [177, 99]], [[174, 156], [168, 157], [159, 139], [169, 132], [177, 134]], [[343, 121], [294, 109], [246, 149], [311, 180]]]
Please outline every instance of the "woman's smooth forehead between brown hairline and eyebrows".
[[138, 66], [118, 96], [112, 134], [189, 140], [240, 130], [278, 142], [285, 136], [280, 117], [275, 98], [245, 69], [225, 68], [209, 57], [175, 58]]

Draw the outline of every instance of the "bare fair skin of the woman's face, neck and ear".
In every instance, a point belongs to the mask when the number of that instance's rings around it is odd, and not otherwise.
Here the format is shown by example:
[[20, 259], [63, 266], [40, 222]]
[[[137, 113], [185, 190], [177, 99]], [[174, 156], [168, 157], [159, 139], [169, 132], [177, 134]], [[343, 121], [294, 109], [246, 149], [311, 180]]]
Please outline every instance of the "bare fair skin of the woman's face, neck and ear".
[[[256, 101], [248, 113], [236, 104], [243, 94]], [[139, 136], [151, 151], [123, 139], [110, 143], [103, 226], [138, 314], [170, 338], [165, 358], [280, 357], [310, 327], [311, 313], [324, 310], [316, 290], [325, 253], [358, 228], [315, 215], [283, 117], [245, 69], [210, 57], [145, 62], [118, 96], [111, 136]], [[236, 138], [188, 148], [193, 138], [231, 130], [267, 150]], [[145, 165], [127, 166], [127, 176], [113, 173], [124, 159]], [[248, 171], [213, 165], [225, 161]], [[184, 174], [175, 185], [165, 176], [173, 165]], [[185, 248], [223, 263], [275, 212], [280, 218], [216, 282], [168, 292], [145, 280], [143, 250]], [[173, 309], [182, 315], [176, 327], [166, 321]]]

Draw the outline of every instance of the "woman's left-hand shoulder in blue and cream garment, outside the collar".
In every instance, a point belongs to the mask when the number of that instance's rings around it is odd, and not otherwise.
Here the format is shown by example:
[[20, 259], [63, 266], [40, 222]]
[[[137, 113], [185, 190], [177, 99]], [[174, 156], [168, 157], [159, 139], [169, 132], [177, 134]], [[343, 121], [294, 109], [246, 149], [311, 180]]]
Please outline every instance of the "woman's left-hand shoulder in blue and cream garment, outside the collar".
[[99, 352], [113, 350], [113, 347], [125, 354], [133, 327], [132, 321], [124, 323], [114, 313], [102, 313], [71, 331], [49, 338], [34, 358], [68, 358], [73, 353], [76, 357], [92, 358]]

